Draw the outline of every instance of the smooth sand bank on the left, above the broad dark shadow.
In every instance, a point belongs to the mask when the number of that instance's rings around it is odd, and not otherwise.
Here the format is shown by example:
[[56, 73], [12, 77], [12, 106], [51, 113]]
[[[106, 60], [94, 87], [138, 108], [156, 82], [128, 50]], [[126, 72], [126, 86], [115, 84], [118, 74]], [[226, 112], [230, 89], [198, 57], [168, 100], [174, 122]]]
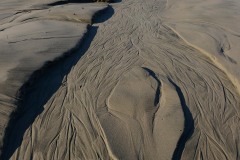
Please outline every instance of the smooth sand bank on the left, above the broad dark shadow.
[[18, 107], [23, 92], [50, 61], [78, 48], [93, 15], [106, 7], [53, 0], [0, 2], [0, 154], [9, 120], [23, 111]]

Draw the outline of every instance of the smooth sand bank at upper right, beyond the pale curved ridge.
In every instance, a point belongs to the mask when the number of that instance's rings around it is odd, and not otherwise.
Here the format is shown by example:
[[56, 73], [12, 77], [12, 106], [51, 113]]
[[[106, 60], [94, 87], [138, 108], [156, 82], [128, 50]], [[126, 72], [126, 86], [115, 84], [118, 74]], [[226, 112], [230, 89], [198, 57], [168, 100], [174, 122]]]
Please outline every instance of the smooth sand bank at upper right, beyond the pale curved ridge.
[[[239, 79], [238, 8], [237, 0], [171, 1], [162, 18], [189, 45], [208, 54], [217, 66], [226, 68], [225, 72], [230, 77]], [[236, 81], [233, 80], [233, 83], [237, 83]]]

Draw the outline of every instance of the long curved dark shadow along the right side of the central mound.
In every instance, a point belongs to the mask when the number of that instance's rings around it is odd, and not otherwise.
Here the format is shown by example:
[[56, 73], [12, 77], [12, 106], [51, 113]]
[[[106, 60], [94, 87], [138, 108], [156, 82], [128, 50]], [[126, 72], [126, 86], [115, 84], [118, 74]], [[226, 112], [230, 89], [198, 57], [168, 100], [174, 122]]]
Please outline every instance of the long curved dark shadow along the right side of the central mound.
[[186, 104], [184, 95], [181, 91], [181, 89], [177, 86], [176, 83], [174, 83], [170, 78], [168, 78], [169, 82], [175, 87], [177, 94], [180, 98], [180, 102], [182, 105], [183, 113], [184, 113], [184, 131], [178, 140], [177, 147], [173, 153], [172, 160], [180, 160], [182, 157], [183, 150], [185, 148], [187, 140], [192, 136], [194, 132], [194, 120], [192, 117], [192, 114]]

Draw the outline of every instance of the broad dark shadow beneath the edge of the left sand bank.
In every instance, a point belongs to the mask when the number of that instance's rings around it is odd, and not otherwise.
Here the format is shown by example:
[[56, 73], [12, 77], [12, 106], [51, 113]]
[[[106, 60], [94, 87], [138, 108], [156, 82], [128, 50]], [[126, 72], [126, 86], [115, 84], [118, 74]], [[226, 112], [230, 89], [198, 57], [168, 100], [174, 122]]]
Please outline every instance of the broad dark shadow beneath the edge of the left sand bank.
[[[113, 14], [109, 10], [105, 10], [102, 13], [110, 14], [108, 17], [111, 17], [111, 14]], [[98, 14], [98, 16], [101, 15]], [[54, 61], [46, 63], [42, 68], [35, 71], [21, 87], [18, 93], [17, 109], [11, 114], [5, 131], [1, 160], [10, 159], [21, 145], [24, 133], [37, 116], [43, 112], [44, 105], [64, 85], [65, 75], [70, 72], [71, 68], [77, 64], [88, 50], [97, 34], [97, 30], [98, 27], [88, 26], [88, 32], [74, 49], [64, 53], [63, 56]]]

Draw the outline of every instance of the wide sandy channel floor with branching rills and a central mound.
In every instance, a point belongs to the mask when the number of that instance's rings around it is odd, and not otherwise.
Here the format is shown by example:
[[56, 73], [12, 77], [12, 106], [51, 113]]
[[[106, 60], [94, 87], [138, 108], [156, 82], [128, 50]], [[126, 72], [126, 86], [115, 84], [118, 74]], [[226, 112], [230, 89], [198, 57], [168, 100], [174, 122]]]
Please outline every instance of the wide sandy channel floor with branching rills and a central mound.
[[4, 158], [239, 159], [238, 83], [168, 25], [168, 5], [114, 4], [77, 63], [31, 85]]

